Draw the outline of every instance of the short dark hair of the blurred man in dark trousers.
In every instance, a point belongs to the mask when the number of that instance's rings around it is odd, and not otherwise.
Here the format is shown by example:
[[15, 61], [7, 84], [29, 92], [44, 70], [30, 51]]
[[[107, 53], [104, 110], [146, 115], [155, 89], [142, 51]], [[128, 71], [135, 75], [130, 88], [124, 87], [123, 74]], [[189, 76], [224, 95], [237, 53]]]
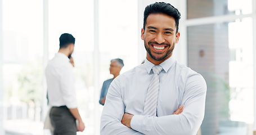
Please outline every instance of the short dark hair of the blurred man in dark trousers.
[[70, 43], [75, 44], [75, 38], [69, 33], [63, 33], [60, 36], [60, 48], [66, 48]]

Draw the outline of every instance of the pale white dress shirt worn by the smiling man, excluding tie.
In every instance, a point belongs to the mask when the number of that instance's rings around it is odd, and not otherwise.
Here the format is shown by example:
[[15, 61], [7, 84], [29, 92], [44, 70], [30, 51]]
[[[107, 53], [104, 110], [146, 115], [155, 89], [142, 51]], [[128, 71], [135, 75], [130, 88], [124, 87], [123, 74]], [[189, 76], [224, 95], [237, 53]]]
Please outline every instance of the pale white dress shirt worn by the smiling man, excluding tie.
[[[110, 84], [101, 115], [101, 134], [195, 135], [205, 110], [204, 78], [172, 57], [160, 64], [157, 116], [143, 115], [154, 64], [145, 61], [119, 75]], [[173, 115], [185, 105], [179, 115]], [[131, 128], [121, 123], [124, 113], [133, 114]]]

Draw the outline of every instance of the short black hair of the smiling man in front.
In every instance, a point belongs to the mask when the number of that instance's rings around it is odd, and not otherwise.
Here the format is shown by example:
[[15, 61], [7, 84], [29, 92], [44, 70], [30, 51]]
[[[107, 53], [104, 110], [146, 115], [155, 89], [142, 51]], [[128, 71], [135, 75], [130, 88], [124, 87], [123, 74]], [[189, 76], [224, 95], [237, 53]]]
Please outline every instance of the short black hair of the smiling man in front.
[[181, 13], [177, 10], [177, 8], [173, 7], [170, 3], [165, 2], [156, 2], [153, 4], [148, 5], [144, 11], [144, 22], [143, 22], [143, 29], [145, 30], [146, 20], [147, 17], [151, 13], [164, 13], [165, 15], [171, 16], [174, 18], [176, 23], [176, 33], [178, 32], [179, 28], [179, 19], [181, 19]]

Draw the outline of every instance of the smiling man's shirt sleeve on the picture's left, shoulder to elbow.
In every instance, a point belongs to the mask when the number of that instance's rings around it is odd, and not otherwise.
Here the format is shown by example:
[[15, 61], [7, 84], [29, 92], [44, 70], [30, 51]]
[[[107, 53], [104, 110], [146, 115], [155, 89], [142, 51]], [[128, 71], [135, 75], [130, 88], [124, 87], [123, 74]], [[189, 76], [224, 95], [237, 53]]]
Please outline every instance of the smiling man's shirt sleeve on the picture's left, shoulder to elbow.
[[142, 134], [126, 127], [121, 123], [124, 115], [125, 106], [123, 104], [122, 95], [116, 78], [109, 87], [106, 102], [101, 115], [101, 135], [105, 134]]

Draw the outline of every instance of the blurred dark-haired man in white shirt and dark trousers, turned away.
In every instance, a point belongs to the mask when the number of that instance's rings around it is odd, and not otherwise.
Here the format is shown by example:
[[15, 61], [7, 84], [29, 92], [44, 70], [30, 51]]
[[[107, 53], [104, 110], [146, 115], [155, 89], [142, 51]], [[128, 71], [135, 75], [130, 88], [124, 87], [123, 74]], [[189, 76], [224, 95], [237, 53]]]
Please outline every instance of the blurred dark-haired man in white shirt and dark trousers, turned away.
[[85, 128], [77, 109], [73, 65], [68, 57], [73, 53], [74, 46], [73, 35], [62, 34], [60, 50], [46, 67], [48, 100], [52, 106], [50, 120], [54, 128], [54, 135], [75, 135], [77, 131], [82, 132]]

